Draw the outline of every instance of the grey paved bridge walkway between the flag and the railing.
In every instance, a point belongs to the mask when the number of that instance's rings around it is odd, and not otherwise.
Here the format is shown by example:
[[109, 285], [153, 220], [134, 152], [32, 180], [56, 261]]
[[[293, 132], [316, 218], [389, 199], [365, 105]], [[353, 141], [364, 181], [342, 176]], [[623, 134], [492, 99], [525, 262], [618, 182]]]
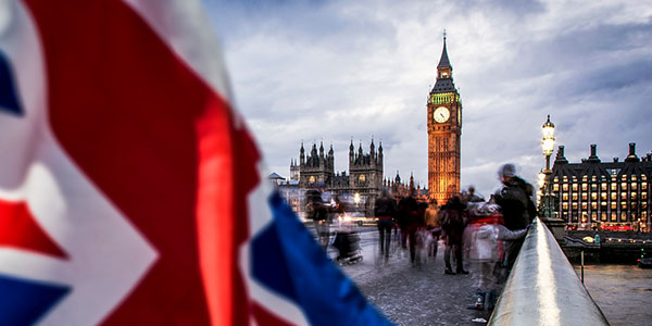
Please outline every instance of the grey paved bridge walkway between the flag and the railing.
[[[363, 235], [364, 260], [342, 266], [362, 292], [397, 325], [486, 325], [490, 313], [466, 309], [475, 290], [471, 275], [443, 274], [443, 244], [436, 259], [422, 254], [410, 264], [408, 251], [393, 249], [389, 260], [378, 259], [377, 233]], [[366, 244], [366, 246], [364, 246]]]

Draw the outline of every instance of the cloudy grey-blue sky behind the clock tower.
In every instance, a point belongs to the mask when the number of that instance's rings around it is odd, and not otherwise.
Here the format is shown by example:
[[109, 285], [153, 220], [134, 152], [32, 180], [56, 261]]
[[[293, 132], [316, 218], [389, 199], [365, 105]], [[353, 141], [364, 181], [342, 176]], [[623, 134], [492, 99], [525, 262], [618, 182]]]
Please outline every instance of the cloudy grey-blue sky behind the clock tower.
[[[626, 1], [204, 0], [237, 108], [269, 172], [299, 147], [383, 141], [385, 175], [427, 186], [426, 101], [442, 32], [463, 101], [462, 186], [489, 197], [502, 163], [536, 184], [541, 125], [579, 162], [652, 150], [652, 5]], [[556, 153], [556, 150], [555, 150]], [[554, 154], [553, 154], [554, 159]]]

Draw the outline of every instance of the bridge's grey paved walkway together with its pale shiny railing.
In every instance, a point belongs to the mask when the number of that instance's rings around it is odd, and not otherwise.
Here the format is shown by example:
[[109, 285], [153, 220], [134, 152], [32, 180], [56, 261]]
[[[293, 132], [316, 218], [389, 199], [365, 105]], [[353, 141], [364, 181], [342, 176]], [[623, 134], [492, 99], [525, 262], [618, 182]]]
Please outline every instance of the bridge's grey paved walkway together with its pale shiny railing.
[[[397, 325], [609, 325], [546, 225], [528, 231], [523, 249], [492, 312], [473, 302], [472, 275], [443, 274], [443, 246], [436, 258], [393, 249], [377, 252], [377, 234], [361, 233], [363, 261], [343, 265], [365, 294]], [[329, 252], [334, 256], [334, 252]]]

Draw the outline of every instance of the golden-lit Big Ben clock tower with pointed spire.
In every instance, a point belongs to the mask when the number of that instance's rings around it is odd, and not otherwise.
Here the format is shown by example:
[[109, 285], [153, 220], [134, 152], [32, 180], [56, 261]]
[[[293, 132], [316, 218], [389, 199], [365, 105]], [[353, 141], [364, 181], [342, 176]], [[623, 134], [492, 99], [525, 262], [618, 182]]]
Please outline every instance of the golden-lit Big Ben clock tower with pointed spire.
[[453, 67], [446, 51], [437, 65], [437, 83], [428, 97], [428, 192], [439, 204], [460, 193], [460, 136], [462, 102], [453, 84]]

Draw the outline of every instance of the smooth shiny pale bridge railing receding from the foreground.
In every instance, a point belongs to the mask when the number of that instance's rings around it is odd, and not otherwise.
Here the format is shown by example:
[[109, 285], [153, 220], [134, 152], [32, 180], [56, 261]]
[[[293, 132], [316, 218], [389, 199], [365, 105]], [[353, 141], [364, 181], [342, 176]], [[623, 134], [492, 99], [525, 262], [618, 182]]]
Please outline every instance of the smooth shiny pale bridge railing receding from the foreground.
[[609, 325], [548, 227], [537, 218], [488, 325]]

